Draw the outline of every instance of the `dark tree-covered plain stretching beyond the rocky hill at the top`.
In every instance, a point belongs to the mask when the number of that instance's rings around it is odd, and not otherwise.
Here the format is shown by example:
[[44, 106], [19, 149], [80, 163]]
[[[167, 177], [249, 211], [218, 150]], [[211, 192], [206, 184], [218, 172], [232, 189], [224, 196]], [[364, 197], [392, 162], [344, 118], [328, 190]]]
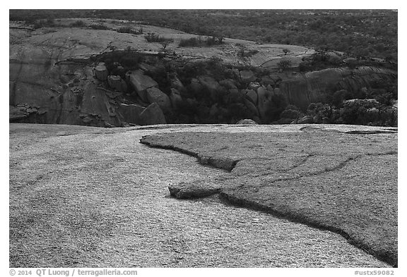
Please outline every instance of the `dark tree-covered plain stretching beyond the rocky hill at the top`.
[[112, 18], [196, 35], [293, 44], [397, 61], [392, 10], [10, 10], [10, 20]]

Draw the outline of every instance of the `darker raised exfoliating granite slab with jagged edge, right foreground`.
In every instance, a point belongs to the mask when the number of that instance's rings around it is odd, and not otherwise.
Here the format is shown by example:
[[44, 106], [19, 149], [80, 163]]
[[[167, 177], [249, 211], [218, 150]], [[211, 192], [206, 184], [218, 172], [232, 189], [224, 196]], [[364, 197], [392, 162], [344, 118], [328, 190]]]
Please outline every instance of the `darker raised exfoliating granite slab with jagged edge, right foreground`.
[[208, 181], [207, 193], [205, 180], [177, 190], [172, 184], [175, 197], [219, 192], [232, 204], [332, 230], [397, 265], [396, 128], [302, 125], [259, 132], [165, 133], [141, 142], [230, 171]]

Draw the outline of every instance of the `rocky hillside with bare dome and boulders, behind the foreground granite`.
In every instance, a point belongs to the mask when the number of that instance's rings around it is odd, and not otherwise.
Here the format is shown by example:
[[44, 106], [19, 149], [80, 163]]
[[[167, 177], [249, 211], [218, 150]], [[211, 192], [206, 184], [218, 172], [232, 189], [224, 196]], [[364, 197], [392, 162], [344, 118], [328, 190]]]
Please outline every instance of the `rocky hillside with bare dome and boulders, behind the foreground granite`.
[[[37, 29], [11, 23], [11, 122], [271, 123], [288, 104], [306, 111], [327, 94], [371, 93], [397, 78], [372, 66], [297, 73], [314, 53], [305, 47], [227, 38], [212, 47], [179, 47], [199, 36], [119, 20], [80, 22], [86, 26], [73, 27], [76, 19]], [[148, 42], [148, 34], [160, 42]], [[278, 70], [280, 61], [288, 68]]]

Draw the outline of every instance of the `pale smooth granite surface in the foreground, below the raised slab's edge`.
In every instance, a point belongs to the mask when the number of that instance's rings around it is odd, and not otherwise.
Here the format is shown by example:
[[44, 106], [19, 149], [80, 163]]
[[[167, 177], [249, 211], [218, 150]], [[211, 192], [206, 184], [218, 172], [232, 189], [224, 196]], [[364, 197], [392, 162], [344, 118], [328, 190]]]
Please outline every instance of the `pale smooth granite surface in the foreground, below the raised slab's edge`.
[[213, 182], [230, 173], [137, 143], [158, 133], [262, 137], [300, 128], [10, 124], [9, 265], [387, 267], [330, 231], [225, 205], [216, 196], [169, 197], [169, 184]]

